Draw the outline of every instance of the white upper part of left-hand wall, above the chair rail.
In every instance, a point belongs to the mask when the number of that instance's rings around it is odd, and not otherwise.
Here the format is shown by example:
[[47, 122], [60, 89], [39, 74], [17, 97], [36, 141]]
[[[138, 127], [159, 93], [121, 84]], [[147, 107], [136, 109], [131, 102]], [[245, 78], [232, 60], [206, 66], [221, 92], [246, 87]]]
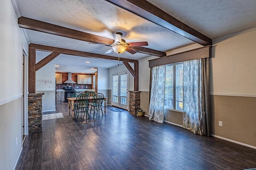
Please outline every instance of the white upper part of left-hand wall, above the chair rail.
[[[3, 100], [14, 100], [22, 95], [22, 45], [28, 51], [28, 42], [21, 28], [11, 1], [0, 2], [0, 104]], [[18, 74], [17, 74], [18, 73]]]

